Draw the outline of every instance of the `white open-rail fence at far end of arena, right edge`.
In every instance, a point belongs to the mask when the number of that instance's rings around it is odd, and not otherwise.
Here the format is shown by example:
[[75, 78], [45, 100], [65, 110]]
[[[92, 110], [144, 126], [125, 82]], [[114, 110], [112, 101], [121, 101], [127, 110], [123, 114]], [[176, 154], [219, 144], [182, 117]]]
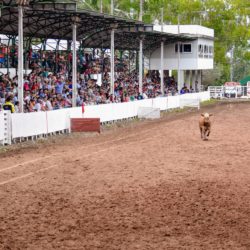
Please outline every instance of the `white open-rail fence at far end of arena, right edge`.
[[250, 86], [209, 86], [211, 98], [250, 98]]

